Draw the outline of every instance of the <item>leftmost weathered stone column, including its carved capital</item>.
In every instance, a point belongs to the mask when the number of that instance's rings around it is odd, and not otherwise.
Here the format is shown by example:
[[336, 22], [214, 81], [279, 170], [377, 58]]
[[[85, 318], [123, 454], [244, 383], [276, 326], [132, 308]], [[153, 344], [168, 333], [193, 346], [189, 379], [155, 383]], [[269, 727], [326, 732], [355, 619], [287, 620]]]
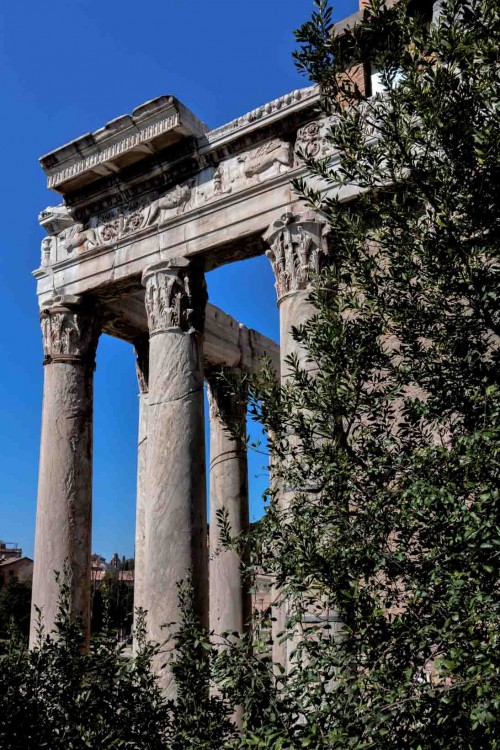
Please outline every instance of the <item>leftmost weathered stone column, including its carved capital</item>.
[[30, 644], [36, 611], [46, 632], [58, 610], [55, 571], [66, 571], [70, 611], [90, 633], [93, 373], [99, 325], [76, 297], [55, 298], [40, 315], [44, 387]]

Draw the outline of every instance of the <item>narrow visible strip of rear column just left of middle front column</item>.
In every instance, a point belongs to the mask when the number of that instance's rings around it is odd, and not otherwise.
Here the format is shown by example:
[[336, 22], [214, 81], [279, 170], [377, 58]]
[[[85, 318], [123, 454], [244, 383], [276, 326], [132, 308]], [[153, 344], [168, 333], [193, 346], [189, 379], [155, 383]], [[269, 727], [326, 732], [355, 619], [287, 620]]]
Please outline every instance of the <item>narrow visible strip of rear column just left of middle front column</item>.
[[[135, 516], [134, 623], [135, 610], [145, 609], [146, 580], [146, 454], [148, 441], [149, 337], [134, 341], [139, 384], [139, 434], [137, 441], [137, 496]], [[137, 643], [134, 638], [134, 650]]]

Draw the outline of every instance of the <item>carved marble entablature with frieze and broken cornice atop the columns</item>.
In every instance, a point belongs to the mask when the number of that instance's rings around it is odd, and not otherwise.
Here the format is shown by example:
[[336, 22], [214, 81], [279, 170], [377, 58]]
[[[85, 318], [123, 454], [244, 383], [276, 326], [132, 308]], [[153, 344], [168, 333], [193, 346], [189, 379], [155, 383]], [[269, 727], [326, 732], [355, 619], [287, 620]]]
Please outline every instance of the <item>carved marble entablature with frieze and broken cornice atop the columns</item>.
[[[265, 252], [262, 234], [297, 206], [292, 180], [305, 175], [303, 155], [332, 156], [318, 102], [316, 87], [300, 89], [208, 131], [178, 100], [160, 97], [43, 157], [49, 181], [71, 167], [79, 182], [60, 182], [64, 204], [40, 214], [48, 232], [34, 272], [40, 299], [128, 283], [172, 257], [201, 257], [211, 270]], [[170, 108], [181, 122], [172, 129], [184, 134], [150, 149], [143, 134]], [[131, 121], [142, 141], [127, 151]], [[102, 175], [106, 149], [123, 161]]]

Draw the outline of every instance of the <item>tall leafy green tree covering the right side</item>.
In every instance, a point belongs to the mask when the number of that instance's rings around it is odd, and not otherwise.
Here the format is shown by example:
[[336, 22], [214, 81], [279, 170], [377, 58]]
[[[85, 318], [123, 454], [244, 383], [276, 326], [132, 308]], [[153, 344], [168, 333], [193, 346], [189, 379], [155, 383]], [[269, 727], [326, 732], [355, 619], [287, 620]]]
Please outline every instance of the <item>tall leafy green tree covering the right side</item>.
[[236, 746], [499, 747], [500, 7], [446, 0], [430, 25], [375, 0], [337, 38], [320, 0], [297, 38], [331, 156], [295, 188], [331, 255], [294, 332], [307, 371], [246, 383], [288, 489], [254, 560], [295, 651]]

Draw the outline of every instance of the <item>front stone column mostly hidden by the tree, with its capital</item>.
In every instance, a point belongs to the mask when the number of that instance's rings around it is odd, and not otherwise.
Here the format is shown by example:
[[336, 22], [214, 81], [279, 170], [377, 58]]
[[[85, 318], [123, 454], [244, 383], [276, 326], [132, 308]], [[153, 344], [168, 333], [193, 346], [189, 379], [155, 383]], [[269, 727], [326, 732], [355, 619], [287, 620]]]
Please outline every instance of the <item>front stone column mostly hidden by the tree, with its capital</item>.
[[[275, 221], [264, 234], [269, 245], [266, 252], [275, 276], [275, 287], [280, 313], [280, 364], [281, 382], [290, 376], [286, 359], [297, 356], [303, 369], [311, 371], [313, 366], [306, 360], [306, 352], [294, 341], [292, 327], [307, 322], [315, 308], [309, 302], [309, 280], [311, 274], [319, 273], [326, 257], [327, 248], [324, 225], [314, 214], [286, 212]], [[272, 472], [271, 456], [271, 472]], [[282, 488], [280, 502], [286, 507], [293, 490]], [[279, 591], [273, 589], [273, 599], [279, 601]], [[278, 635], [285, 630], [286, 611], [282, 603], [273, 607], [273, 662], [283, 667], [289, 661], [291, 643], [279, 643]]]

